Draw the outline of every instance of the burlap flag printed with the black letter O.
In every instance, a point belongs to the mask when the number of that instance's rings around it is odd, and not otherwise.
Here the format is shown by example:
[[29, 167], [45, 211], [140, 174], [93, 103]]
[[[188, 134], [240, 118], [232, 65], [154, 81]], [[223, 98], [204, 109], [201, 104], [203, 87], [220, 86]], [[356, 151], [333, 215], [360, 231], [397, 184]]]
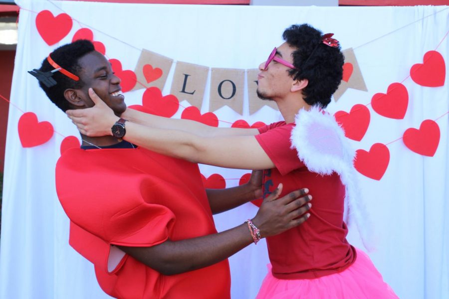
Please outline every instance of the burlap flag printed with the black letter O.
[[209, 111], [228, 106], [243, 114], [245, 70], [212, 68]]

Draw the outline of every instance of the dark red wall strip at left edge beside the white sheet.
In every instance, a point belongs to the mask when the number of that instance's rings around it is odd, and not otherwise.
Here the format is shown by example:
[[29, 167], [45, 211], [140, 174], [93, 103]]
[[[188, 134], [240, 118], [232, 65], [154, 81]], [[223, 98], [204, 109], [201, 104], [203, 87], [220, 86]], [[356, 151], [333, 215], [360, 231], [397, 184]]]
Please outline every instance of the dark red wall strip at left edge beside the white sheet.
[[[14, 69], [15, 51], [0, 51], [0, 95], [9, 100], [11, 93], [12, 70]], [[3, 172], [4, 145], [6, 126], [8, 124], [9, 103], [0, 98], [0, 171]]]

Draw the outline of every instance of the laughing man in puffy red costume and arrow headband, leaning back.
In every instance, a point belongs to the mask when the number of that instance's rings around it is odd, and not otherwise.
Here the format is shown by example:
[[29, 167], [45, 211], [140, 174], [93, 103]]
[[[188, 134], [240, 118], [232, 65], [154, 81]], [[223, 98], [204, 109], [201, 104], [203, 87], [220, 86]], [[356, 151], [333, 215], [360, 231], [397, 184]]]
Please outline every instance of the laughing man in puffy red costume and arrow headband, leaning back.
[[[64, 112], [92, 107], [93, 90], [115, 115], [126, 110], [120, 79], [90, 41], [57, 48], [30, 73]], [[81, 149], [66, 150], [56, 165], [70, 245], [94, 264], [98, 283], [110, 296], [229, 298], [226, 258], [309, 216], [307, 189], [277, 199], [280, 185], [254, 218], [217, 233], [212, 213], [260, 196], [260, 173], [243, 186], [207, 192], [197, 164], [121, 140], [123, 123], [112, 133], [81, 134]]]

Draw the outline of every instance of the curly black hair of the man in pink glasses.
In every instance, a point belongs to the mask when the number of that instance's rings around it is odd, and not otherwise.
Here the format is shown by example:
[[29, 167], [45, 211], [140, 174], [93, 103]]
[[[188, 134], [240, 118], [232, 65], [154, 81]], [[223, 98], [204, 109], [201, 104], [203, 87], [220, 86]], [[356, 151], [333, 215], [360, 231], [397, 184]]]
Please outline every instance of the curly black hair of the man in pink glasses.
[[291, 25], [282, 34], [283, 39], [297, 50], [293, 51], [293, 65], [289, 70], [294, 80], [307, 79], [302, 90], [309, 105], [325, 108], [331, 101], [343, 76], [344, 56], [340, 46], [322, 43], [322, 32], [309, 24]]

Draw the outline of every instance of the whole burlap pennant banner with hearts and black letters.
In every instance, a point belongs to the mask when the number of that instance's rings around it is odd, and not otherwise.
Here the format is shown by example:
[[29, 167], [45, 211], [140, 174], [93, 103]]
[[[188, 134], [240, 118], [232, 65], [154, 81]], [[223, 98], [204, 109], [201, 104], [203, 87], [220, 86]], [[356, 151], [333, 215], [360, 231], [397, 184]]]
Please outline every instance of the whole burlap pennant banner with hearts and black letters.
[[[334, 100], [338, 101], [348, 88], [368, 91], [362, 72], [352, 48], [343, 51], [345, 63], [343, 65], [343, 79]], [[157, 87], [164, 88], [173, 59], [158, 53], [143, 49], [135, 73], [138, 83], [133, 90]], [[273, 101], [264, 101], [257, 97], [258, 69], [211, 69], [211, 90], [209, 97], [209, 111], [214, 112], [228, 106], [236, 113], [243, 114], [244, 74], [248, 86], [249, 114], [259, 111], [263, 106], [278, 110]], [[179, 100], [187, 100], [192, 106], [201, 110], [208, 79], [209, 67], [178, 61], [175, 68], [170, 93]], [[139, 83], [140, 82], [140, 83]]]

